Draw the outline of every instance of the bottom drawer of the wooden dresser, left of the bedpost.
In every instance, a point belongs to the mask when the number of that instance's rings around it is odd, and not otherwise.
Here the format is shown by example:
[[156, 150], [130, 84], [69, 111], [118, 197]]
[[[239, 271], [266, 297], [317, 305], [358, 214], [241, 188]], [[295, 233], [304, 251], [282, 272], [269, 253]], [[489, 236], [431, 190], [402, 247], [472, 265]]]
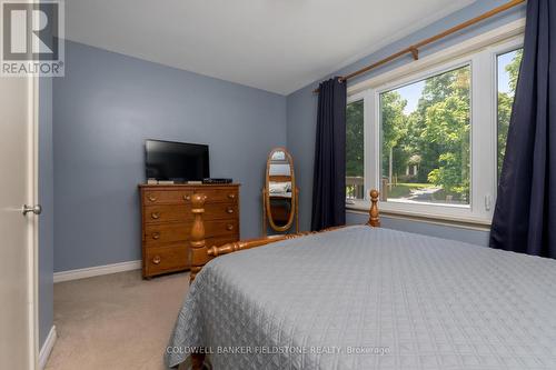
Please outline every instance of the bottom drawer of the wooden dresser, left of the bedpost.
[[149, 276], [188, 269], [189, 247], [181, 244], [149, 248], [146, 250], [143, 263]]

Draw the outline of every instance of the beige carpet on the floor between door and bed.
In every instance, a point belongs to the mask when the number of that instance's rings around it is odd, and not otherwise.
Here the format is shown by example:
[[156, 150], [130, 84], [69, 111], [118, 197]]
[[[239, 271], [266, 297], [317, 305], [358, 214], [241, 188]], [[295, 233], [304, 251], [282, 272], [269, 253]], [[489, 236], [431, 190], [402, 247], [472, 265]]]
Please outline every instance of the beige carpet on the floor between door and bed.
[[129, 271], [54, 284], [58, 340], [47, 369], [165, 369], [188, 281], [189, 273], [148, 281]]

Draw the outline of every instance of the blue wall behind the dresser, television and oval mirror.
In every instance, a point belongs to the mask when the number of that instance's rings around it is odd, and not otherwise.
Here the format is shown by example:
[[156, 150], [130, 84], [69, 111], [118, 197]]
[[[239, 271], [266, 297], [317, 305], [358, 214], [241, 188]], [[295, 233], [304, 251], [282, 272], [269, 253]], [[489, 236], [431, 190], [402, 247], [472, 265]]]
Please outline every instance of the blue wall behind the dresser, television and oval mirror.
[[286, 144], [286, 97], [66, 42], [53, 82], [54, 271], [138, 260], [147, 138], [208, 143], [259, 234], [266, 158]]

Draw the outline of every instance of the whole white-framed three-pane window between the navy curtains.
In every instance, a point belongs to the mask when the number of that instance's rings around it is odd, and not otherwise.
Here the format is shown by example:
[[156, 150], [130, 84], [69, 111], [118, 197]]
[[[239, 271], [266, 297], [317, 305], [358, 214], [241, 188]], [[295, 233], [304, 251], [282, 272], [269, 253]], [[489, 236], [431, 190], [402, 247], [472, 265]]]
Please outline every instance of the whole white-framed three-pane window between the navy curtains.
[[360, 82], [347, 106], [347, 202], [488, 223], [522, 59], [515, 37]]

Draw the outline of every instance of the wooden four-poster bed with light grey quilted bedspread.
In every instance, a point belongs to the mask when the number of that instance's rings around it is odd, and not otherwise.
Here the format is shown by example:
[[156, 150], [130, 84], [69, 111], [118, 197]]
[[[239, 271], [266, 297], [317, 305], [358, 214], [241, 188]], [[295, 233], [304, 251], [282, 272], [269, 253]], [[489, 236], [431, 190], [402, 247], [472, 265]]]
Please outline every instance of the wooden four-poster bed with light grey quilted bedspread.
[[201, 200], [168, 367], [556, 369], [554, 260], [369, 226], [208, 248]]

